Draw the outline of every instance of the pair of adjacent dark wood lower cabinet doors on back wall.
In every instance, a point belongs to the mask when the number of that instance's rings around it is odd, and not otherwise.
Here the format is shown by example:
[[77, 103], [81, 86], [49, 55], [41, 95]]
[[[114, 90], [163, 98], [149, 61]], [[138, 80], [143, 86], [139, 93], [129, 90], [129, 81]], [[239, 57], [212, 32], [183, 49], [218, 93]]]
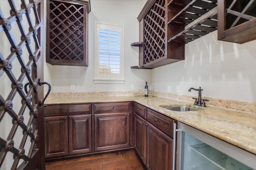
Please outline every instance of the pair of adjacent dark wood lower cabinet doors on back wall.
[[92, 115], [44, 117], [46, 158], [92, 151]]

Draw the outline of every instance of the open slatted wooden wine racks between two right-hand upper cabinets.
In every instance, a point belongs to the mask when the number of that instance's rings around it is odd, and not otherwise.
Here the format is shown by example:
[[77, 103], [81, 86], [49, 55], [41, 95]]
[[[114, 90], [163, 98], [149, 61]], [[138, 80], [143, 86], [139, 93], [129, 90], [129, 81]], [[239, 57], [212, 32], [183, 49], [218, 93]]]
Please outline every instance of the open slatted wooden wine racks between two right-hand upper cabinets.
[[170, 0], [168, 7], [175, 11], [168, 43], [186, 44], [217, 29], [217, 0]]

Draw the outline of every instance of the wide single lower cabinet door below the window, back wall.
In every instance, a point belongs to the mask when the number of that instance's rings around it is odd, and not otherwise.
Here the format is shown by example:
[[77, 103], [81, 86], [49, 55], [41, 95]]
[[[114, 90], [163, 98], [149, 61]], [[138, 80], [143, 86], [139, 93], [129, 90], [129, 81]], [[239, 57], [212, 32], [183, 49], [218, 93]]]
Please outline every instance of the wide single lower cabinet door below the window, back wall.
[[130, 112], [94, 115], [95, 151], [130, 146]]

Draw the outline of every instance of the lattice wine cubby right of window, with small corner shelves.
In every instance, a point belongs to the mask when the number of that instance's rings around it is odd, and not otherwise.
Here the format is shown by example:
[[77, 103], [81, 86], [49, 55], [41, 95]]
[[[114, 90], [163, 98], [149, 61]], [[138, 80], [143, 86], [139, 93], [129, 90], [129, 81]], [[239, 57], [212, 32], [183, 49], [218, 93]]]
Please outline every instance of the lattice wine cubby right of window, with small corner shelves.
[[140, 42], [139, 66], [131, 68], [155, 68], [184, 59], [184, 45], [168, 43], [167, 0], [148, 0], [138, 16]]

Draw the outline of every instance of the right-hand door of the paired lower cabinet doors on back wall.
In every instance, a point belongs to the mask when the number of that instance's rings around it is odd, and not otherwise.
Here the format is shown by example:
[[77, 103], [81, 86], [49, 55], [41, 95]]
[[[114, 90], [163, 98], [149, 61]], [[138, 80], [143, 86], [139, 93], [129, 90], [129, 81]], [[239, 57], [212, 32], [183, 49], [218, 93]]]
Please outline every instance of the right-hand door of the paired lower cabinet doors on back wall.
[[69, 154], [92, 151], [92, 115], [68, 116]]

